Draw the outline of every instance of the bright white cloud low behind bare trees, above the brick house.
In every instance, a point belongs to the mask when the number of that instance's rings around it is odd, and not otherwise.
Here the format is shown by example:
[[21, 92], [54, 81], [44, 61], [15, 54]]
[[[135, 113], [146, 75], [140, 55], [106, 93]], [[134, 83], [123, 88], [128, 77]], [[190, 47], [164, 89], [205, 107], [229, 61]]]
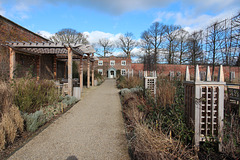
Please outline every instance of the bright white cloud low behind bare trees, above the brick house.
[[112, 33], [106, 33], [106, 32], [101, 32], [101, 31], [92, 31], [92, 32], [83, 32], [86, 36], [88, 36], [88, 41], [91, 44], [96, 44], [99, 42], [99, 39], [107, 38], [111, 41], [116, 41], [119, 39], [119, 34], [112, 34]]

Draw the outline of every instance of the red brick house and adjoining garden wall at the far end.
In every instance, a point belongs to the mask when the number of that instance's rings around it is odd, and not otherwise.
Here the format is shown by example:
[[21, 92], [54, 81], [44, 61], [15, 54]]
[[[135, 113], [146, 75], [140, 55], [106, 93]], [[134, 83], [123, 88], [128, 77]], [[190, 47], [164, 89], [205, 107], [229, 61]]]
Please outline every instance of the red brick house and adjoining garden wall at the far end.
[[[194, 77], [193, 65], [177, 65], [177, 64], [158, 64], [157, 74], [159, 76], [168, 76], [169, 79], [181, 78], [184, 79], [186, 67], [189, 66], [191, 77]], [[138, 76], [144, 70], [144, 64], [132, 63], [130, 57], [99, 57], [99, 60], [95, 62], [95, 70], [108, 78], [115, 78], [116, 72], [119, 70], [121, 75], [126, 75], [130, 72], [130, 75]], [[204, 80], [206, 76], [207, 65], [199, 66], [201, 79]], [[212, 67], [210, 66], [212, 72]], [[219, 66], [215, 67], [214, 75], [215, 80], [218, 76]], [[237, 66], [223, 66], [225, 81], [227, 82], [239, 82], [240, 81], [240, 67]]]

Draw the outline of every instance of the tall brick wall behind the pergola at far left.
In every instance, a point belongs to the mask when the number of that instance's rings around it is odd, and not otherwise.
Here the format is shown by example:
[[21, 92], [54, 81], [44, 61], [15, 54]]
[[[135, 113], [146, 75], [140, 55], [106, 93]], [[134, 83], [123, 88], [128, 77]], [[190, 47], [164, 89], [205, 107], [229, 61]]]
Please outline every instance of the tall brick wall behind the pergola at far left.
[[[5, 44], [6, 41], [38, 41], [47, 42], [36, 33], [10, 21], [9, 19], [0, 16], [0, 44]], [[35, 56], [29, 54], [16, 53], [16, 65], [21, 66], [19, 76], [25, 75], [29, 71], [29, 67], [33, 66], [33, 72], [36, 71]], [[45, 62], [43, 62], [45, 63]], [[36, 72], [35, 72], [36, 73]], [[9, 77], [9, 51], [6, 47], [0, 45], [0, 77]]]

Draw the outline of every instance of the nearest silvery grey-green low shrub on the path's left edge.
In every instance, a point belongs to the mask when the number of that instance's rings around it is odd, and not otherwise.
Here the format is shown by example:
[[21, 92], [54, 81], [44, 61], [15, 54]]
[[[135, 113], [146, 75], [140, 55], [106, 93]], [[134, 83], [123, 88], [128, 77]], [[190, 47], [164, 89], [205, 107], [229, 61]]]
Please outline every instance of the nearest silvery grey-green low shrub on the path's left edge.
[[29, 132], [35, 132], [40, 126], [46, 122], [46, 116], [43, 111], [36, 111], [35, 113], [23, 114], [23, 118], [26, 121], [26, 128]]

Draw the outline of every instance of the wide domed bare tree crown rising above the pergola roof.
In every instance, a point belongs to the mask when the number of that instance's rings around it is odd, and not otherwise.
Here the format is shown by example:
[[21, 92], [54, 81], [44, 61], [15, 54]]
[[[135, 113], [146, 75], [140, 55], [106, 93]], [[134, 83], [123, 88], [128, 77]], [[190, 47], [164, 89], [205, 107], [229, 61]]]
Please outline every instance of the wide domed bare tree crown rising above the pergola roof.
[[84, 34], [71, 28], [64, 28], [58, 31], [54, 36], [50, 37], [50, 40], [57, 43], [89, 43]]

